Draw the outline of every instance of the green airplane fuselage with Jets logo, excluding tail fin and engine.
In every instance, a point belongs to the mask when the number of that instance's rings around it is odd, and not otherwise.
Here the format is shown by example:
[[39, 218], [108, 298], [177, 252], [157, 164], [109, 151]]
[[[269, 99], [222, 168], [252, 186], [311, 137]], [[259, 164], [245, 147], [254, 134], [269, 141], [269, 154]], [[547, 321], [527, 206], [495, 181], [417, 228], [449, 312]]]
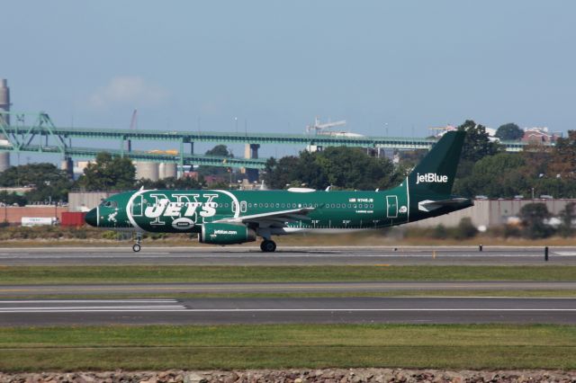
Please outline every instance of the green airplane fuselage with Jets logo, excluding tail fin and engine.
[[[117, 194], [99, 207], [97, 227], [199, 232], [223, 218], [312, 208], [288, 228], [376, 228], [426, 218], [410, 207], [404, 185], [390, 191], [157, 190]], [[184, 219], [183, 219], [184, 218]]]

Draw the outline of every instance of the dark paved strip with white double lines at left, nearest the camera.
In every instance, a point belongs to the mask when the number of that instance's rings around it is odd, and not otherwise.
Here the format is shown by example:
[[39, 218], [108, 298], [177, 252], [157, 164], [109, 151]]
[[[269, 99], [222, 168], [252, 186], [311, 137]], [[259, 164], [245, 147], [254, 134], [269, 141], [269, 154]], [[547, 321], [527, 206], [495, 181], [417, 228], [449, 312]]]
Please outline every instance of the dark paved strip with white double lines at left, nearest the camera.
[[576, 324], [576, 298], [0, 300], [0, 325]]

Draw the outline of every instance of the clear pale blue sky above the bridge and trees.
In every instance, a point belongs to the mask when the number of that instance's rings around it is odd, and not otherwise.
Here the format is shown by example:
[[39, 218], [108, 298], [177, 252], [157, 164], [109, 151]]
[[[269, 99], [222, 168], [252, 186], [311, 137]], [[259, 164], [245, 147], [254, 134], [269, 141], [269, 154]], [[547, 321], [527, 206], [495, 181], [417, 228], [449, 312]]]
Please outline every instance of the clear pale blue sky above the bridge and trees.
[[[473, 119], [576, 129], [576, 2], [2, 5], [13, 109], [56, 124], [366, 135]], [[274, 154], [274, 153], [273, 153]], [[284, 154], [284, 153], [281, 153]]]

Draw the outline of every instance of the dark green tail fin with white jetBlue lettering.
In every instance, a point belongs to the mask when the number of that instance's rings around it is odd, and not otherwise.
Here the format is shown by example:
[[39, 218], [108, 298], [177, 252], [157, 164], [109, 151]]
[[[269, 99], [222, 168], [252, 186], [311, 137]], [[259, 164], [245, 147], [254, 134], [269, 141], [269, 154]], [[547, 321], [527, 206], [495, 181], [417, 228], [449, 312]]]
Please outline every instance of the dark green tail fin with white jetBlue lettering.
[[450, 195], [454, 184], [460, 153], [464, 145], [464, 131], [449, 131], [408, 176], [410, 192], [435, 192]]

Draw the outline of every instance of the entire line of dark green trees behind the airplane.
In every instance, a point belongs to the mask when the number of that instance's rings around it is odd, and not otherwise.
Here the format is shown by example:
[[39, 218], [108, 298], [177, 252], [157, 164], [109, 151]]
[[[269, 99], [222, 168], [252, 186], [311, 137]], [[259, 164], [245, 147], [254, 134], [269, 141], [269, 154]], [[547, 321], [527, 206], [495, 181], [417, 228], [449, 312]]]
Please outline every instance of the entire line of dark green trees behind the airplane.
[[[507, 153], [498, 141], [491, 139], [482, 124], [466, 120], [457, 129], [467, 132], [461, 161], [458, 166], [454, 192], [473, 198], [513, 198], [533, 194], [552, 195], [555, 198], [576, 197], [576, 130], [566, 138], [558, 138], [554, 147], [527, 146], [522, 152]], [[521, 138], [522, 130], [516, 124], [502, 125], [497, 136], [502, 139]], [[232, 156], [228, 147], [218, 145], [208, 152], [212, 156]], [[331, 186], [342, 190], [387, 189], [398, 185], [426, 155], [426, 151], [401, 151], [400, 164], [389, 158], [374, 156], [360, 147], [327, 147], [320, 152], [303, 150], [298, 156], [270, 158], [261, 173], [270, 189], [306, 186], [325, 189]], [[25, 196], [0, 192], [0, 201], [18, 203], [34, 201], [66, 201], [70, 190], [130, 190], [146, 188], [202, 189], [202, 176], [224, 176], [227, 168], [200, 166], [198, 180], [189, 178], [166, 179], [157, 182], [136, 180], [136, 171], [130, 158], [100, 153], [94, 163], [85, 168], [76, 181], [66, 172], [51, 164], [12, 166], [0, 174], [0, 186], [34, 185]], [[218, 187], [227, 187], [219, 184]]]

